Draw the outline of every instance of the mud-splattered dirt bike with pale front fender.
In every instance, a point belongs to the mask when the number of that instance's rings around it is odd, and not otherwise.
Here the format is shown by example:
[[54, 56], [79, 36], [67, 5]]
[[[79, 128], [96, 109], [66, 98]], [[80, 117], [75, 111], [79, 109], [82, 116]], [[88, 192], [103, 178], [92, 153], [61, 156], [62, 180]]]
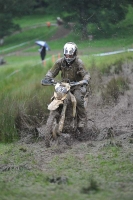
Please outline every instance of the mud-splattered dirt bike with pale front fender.
[[54, 96], [51, 98], [51, 103], [48, 105], [50, 110], [49, 117], [45, 126], [45, 146], [50, 147], [50, 141], [53, 138], [57, 139], [61, 133], [74, 134], [77, 130], [77, 113], [76, 113], [76, 98], [71, 93], [70, 89], [77, 85], [87, 85], [86, 80], [79, 82], [70, 82], [63, 80], [61, 82], [53, 79], [43, 79], [43, 86], [54, 86]]

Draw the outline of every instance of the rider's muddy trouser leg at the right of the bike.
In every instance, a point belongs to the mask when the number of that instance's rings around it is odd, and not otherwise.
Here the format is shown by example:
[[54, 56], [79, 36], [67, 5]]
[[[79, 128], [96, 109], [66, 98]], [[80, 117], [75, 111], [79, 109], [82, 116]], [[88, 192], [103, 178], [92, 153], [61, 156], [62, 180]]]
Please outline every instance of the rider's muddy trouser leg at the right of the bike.
[[72, 92], [77, 100], [77, 116], [78, 127], [84, 127], [86, 124], [86, 110], [84, 107], [84, 95], [80, 89], [76, 89]]

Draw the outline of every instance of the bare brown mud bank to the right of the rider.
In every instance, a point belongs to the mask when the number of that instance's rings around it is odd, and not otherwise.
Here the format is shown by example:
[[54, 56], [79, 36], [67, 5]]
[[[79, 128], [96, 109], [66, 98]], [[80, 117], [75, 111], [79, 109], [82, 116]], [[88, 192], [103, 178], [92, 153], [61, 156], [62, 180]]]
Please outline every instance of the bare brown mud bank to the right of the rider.
[[[124, 63], [119, 76], [129, 81], [129, 89], [120, 94], [117, 102], [103, 103], [99, 94], [93, 94], [88, 102], [88, 128], [97, 133], [97, 140], [113, 136], [133, 133], [133, 63]], [[116, 74], [102, 76], [102, 84], [106, 86], [109, 80], [117, 77]], [[93, 135], [92, 135], [93, 137]]]

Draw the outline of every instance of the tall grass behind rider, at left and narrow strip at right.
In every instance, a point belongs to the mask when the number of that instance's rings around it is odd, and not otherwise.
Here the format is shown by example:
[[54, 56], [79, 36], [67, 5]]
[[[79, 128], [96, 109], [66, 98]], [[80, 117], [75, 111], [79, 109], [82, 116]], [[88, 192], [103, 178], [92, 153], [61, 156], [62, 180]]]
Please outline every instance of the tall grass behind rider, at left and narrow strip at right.
[[[82, 55], [80, 57], [88, 70], [95, 66], [102, 73], [106, 73], [110, 66], [118, 66], [122, 61], [132, 60], [133, 55], [128, 52], [105, 57]], [[35, 56], [18, 54], [7, 57], [7, 64], [0, 69], [1, 141], [9, 142], [16, 138], [15, 120], [19, 113], [38, 115], [40, 120], [45, 117], [53, 88], [42, 87], [40, 81], [51, 66], [52, 60], [49, 59], [43, 67], [38, 53]]]

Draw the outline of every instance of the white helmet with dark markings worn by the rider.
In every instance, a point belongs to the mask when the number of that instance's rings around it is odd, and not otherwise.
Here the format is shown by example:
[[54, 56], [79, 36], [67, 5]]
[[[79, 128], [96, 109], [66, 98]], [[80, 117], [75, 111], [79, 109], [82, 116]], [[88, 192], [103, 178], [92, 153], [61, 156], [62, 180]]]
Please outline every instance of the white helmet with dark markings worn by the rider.
[[[63, 48], [64, 57], [68, 64], [76, 58], [77, 50], [78, 50], [77, 45], [74, 42], [67, 42], [64, 45], [64, 48]], [[66, 57], [66, 55], [70, 55], [72, 57], [68, 58]]]

